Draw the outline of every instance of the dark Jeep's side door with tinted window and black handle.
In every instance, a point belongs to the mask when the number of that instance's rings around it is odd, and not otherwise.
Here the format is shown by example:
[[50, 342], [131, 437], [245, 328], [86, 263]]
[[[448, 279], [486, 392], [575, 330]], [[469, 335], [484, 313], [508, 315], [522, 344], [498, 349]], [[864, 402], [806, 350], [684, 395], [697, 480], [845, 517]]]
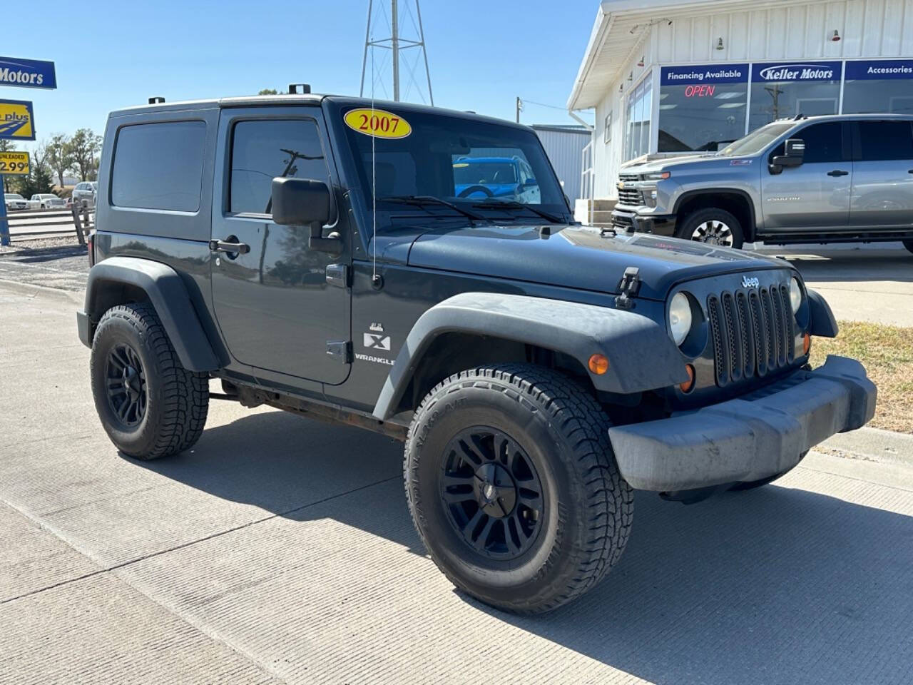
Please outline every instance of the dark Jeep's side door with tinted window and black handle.
[[[228, 351], [255, 375], [265, 369], [340, 384], [350, 367], [351, 291], [345, 279], [328, 283], [327, 267], [347, 258], [310, 249], [309, 227], [279, 226], [270, 214], [274, 177], [316, 179], [332, 191], [336, 172], [322, 111], [223, 109], [218, 135], [212, 238], [219, 243], [210, 244], [210, 262]], [[331, 211], [332, 223], [335, 206]], [[329, 354], [330, 343], [343, 353]]]

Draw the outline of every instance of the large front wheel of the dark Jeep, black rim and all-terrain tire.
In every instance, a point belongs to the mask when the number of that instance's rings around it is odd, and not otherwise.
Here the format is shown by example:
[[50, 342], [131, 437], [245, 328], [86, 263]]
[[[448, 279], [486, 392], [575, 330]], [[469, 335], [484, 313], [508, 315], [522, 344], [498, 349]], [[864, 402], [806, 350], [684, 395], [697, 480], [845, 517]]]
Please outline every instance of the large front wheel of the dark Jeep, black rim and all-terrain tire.
[[523, 614], [595, 585], [627, 543], [634, 496], [609, 421], [581, 385], [503, 364], [437, 385], [406, 439], [406, 499], [438, 568], [469, 595]]

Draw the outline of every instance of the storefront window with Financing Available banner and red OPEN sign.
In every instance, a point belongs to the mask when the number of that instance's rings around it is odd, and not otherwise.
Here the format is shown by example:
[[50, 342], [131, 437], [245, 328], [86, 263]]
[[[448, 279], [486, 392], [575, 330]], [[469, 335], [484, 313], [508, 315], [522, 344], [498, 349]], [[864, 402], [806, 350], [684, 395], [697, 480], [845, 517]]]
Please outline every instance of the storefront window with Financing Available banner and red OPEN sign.
[[658, 151], [722, 150], [745, 135], [747, 100], [747, 64], [663, 68]]

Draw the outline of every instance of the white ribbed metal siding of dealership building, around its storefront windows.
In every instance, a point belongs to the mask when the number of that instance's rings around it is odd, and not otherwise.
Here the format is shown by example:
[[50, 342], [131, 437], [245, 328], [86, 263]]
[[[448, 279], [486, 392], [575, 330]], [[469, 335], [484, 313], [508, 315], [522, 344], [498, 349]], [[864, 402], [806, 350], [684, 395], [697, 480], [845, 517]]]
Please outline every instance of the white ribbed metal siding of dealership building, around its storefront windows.
[[[644, 11], [650, 11], [649, 2], [645, 2]], [[629, 53], [619, 71], [621, 76], [605, 84], [596, 106], [593, 192], [597, 198], [615, 196], [614, 183], [624, 147], [625, 95], [647, 70], [657, 71], [659, 65], [718, 61], [913, 56], [913, 0], [836, 0], [790, 6], [771, 2], [750, 12], [677, 16], [671, 26], [666, 21], [656, 21], [656, 16], [661, 15], [662, 11], [656, 10], [642, 22], [655, 23], [642, 29], [641, 42]], [[839, 41], [831, 40], [834, 30], [839, 32]], [[719, 38], [723, 39], [721, 50], [717, 49]], [[645, 66], [637, 67], [642, 55]], [[633, 80], [628, 80], [629, 76]], [[624, 92], [619, 92], [619, 86]], [[659, 103], [656, 92], [653, 101], [655, 144]], [[613, 113], [612, 142], [605, 144], [603, 122], [609, 111]], [[578, 177], [580, 171], [578, 162]]]

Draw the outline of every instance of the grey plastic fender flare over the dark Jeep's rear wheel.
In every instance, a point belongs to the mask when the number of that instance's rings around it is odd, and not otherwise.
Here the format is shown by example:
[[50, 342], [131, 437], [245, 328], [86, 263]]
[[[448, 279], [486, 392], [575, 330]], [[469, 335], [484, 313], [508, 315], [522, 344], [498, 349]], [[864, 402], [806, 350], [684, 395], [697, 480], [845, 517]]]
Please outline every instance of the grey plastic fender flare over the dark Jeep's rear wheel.
[[100, 289], [106, 283], [122, 283], [146, 293], [185, 369], [215, 371], [220, 368], [184, 281], [167, 264], [151, 259], [112, 257], [89, 269], [84, 311], [79, 312], [78, 317], [88, 319], [88, 325], [80, 321], [80, 339], [86, 336], [82, 340], [84, 344], [91, 346], [95, 325], [104, 313], [100, 311], [104, 308]]

